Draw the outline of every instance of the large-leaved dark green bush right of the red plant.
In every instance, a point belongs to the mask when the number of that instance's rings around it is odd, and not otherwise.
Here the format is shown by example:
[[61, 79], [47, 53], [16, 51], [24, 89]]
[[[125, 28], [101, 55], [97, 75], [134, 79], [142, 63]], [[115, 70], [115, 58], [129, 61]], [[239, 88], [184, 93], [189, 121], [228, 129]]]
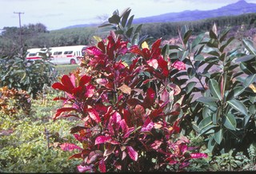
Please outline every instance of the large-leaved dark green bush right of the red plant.
[[174, 49], [170, 53], [185, 61], [187, 67], [185, 75], [189, 82], [181, 95], [186, 105], [183, 111], [190, 117], [184, 125], [190, 125], [198, 136], [204, 136], [214, 155], [231, 149], [234, 154], [246, 153], [256, 131], [256, 52], [253, 43], [243, 40], [251, 53], [246, 55], [239, 50], [241, 48], [230, 49], [234, 38], [226, 38], [228, 30], [219, 34], [214, 26], [208, 34], [200, 34], [188, 42], [191, 32], [184, 27], [182, 45], [171, 46]]

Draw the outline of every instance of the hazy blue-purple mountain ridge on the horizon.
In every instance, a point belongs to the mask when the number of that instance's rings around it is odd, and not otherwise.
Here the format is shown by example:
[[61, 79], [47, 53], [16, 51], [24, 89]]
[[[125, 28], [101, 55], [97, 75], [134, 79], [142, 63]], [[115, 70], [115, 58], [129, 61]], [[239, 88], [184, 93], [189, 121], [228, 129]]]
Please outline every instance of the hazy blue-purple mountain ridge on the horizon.
[[[150, 16], [146, 18], [134, 18], [134, 23], [197, 21], [205, 18], [235, 16], [255, 12], [255, 3], [248, 3], [245, 0], [240, 0], [233, 4], [222, 6], [221, 8], [218, 8], [216, 10], [186, 10], [178, 13], [160, 14], [157, 16]], [[68, 26], [66, 28], [77, 28], [86, 26], [98, 26], [98, 24], [82, 24], [76, 26]]]

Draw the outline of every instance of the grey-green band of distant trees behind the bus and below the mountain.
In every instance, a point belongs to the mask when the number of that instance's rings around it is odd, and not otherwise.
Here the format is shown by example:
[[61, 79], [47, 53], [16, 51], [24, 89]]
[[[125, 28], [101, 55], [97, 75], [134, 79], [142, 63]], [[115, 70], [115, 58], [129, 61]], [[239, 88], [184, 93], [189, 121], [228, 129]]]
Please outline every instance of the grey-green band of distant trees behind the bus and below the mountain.
[[[186, 25], [193, 34], [201, 34], [210, 30], [214, 23], [220, 28], [230, 27], [236, 33], [241, 31], [241, 37], [250, 37], [256, 33], [256, 14], [242, 14], [238, 16], [225, 16], [207, 18], [194, 22], [156, 22], [145, 23], [142, 26], [142, 35], [150, 35], [153, 38], [168, 40], [178, 36], [178, 29]], [[241, 35], [240, 32], [240, 35]], [[22, 46], [26, 49], [34, 47], [51, 47], [65, 45], [93, 45], [93, 36], [104, 37], [108, 33], [97, 26], [71, 28], [62, 30], [47, 30], [42, 23], [22, 26], [22, 35], [18, 27], [4, 27], [0, 35], [0, 57], [19, 53]], [[247, 34], [247, 36], [244, 36]], [[22, 43], [21, 43], [22, 37]], [[240, 37], [238, 35], [238, 37]]]

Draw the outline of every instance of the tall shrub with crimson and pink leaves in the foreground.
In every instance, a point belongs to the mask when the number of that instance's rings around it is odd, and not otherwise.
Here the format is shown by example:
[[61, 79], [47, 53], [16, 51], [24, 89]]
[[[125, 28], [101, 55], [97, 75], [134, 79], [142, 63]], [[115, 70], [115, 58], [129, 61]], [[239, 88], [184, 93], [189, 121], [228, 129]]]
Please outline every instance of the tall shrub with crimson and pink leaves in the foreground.
[[158, 39], [150, 49], [129, 48], [110, 33], [86, 49], [84, 62], [90, 71], [64, 75], [52, 85], [66, 92], [66, 97], [54, 99], [63, 101], [54, 120], [82, 121], [70, 130], [81, 147], [61, 146], [79, 151], [70, 156], [82, 159], [79, 172], [166, 171], [168, 166], [182, 170], [191, 158], [206, 157], [190, 153], [195, 148], [188, 147], [185, 136], [178, 136], [182, 103], [175, 98], [180, 88], [172, 77], [174, 69], [186, 67], [182, 61], [171, 63], [160, 45]]

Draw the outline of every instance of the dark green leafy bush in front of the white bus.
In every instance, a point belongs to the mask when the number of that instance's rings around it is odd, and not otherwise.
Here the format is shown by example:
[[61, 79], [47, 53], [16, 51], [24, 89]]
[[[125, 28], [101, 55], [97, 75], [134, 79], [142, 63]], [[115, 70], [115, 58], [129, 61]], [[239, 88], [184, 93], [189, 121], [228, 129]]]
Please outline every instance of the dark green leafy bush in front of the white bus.
[[51, 85], [55, 80], [54, 65], [46, 53], [42, 53], [42, 60], [28, 61], [24, 57], [0, 59], [0, 87], [22, 89], [36, 97], [45, 85]]

